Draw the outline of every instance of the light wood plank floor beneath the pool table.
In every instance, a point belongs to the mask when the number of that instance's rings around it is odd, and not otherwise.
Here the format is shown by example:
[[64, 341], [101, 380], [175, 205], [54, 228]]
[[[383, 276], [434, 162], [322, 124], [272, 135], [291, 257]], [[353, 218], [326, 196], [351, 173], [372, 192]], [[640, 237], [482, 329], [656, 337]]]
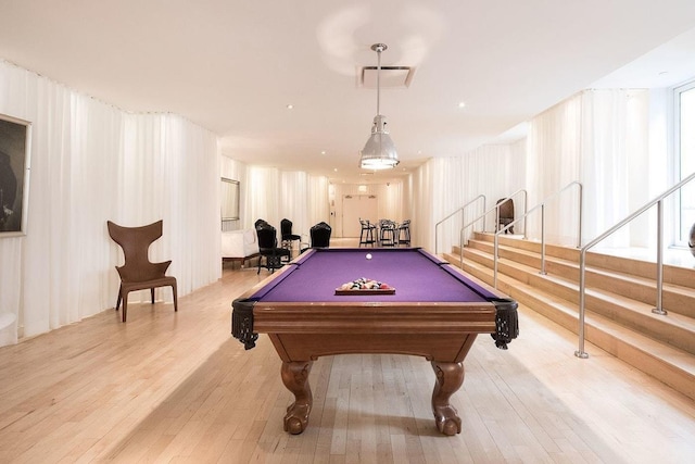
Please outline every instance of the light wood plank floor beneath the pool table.
[[[262, 272], [261, 277], [267, 273]], [[692, 463], [695, 404], [521, 309], [508, 351], [480, 336], [452, 402], [455, 437], [437, 432], [434, 375], [403, 355], [314, 364], [314, 410], [282, 431], [291, 394], [265, 336], [230, 336], [230, 303], [258, 281], [226, 268], [170, 304], [106, 311], [0, 349], [0, 462]]]

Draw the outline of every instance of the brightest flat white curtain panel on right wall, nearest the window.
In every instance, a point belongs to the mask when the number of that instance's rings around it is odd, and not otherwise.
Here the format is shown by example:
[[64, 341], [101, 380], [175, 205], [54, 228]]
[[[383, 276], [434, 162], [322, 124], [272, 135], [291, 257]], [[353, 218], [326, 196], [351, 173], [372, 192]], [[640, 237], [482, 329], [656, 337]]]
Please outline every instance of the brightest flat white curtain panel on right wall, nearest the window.
[[[591, 90], [582, 93], [582, 183], [586, 239], [612, 227], [645, 204], [649, 196], [648, 90]], [[662, 159], [666, 166], [666, 158]], [[656, 210], [655, 210], [656, 212]], [[642, 247], [649, 241], [649, 214], [607, 238], [604, 247]], [[653, 229], [656, 230], [656, 229]]]

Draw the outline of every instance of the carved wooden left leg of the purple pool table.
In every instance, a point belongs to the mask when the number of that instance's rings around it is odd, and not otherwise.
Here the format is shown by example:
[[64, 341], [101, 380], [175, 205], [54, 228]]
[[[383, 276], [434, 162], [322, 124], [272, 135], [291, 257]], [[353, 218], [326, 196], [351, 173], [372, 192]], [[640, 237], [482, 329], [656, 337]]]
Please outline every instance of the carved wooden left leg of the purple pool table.
[[312, 361], [282, 362], [280, 371], [282, 383], [294, 393], [294, 402], [287, 409], [285, 415], [285, 431], [298, 435], [304, 431], [308, 424], [308, 413], [312, 411], [312, 389], [308, 386], [308, 374], [312, 372]]

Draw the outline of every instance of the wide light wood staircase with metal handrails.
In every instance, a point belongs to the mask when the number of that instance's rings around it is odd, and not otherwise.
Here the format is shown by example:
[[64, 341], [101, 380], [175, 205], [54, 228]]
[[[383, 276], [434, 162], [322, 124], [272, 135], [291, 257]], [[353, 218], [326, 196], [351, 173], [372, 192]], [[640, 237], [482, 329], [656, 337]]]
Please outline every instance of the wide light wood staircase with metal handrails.
[[[501, 236], [497, 288], [577, 334], [579, 250], [546, 243], [546, 275], [540, 250], [539, 242]], [[494, 236], [477, 233], [464, 248], [464, 271], [493, 285], [493, 253]], [[458, 247], [444, 258], [458, 266]], [[586, 341], [695, 399], [695, 269], [664, 266], [668, 315], [652, 312], [656, 263], [589, 252], [585, 283]]]

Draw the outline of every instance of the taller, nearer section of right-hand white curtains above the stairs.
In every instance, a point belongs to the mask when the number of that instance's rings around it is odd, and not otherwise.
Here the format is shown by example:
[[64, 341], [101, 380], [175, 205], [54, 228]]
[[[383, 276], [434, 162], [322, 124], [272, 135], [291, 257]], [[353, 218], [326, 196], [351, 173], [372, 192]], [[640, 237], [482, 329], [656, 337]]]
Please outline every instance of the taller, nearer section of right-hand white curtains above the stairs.
[[[648, 200], [648, 142], [647, 90], [586, 90], [567, 99], [531, 121], [527, 149], [530, 204], [580, 181], [582, 241], [587, 242]], [[570, 188], [548, 203], [548, 242], [577, 244], [578, 195]], [[617, 231], [603, 246], [645, 242], [647, 221]], [[540, 238], [540, 214], [529, 217], [528, 234]]]

